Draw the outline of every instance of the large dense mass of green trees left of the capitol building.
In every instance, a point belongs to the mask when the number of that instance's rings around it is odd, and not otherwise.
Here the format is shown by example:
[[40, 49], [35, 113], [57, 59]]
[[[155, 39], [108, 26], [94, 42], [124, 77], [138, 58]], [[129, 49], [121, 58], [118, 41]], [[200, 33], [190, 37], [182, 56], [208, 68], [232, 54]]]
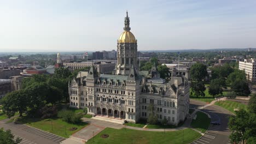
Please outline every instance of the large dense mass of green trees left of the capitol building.
[[77, 76], [78, 72], [84, 69], [74, 70], [73, 73], [68, 68], [56, 68], [53, 76], [38, 74], [26, 77], [22, 81], [22, 89], [13, 91], [5, 95], [0, 100], [3, 105], [3, 112], [8, 117], [15, 115], [15, 112], [27, 114], [30, 117], [44, 117], [44, 114], [56, 110], [49, 109], [62, 100], [69, 100], [68, 81]]

